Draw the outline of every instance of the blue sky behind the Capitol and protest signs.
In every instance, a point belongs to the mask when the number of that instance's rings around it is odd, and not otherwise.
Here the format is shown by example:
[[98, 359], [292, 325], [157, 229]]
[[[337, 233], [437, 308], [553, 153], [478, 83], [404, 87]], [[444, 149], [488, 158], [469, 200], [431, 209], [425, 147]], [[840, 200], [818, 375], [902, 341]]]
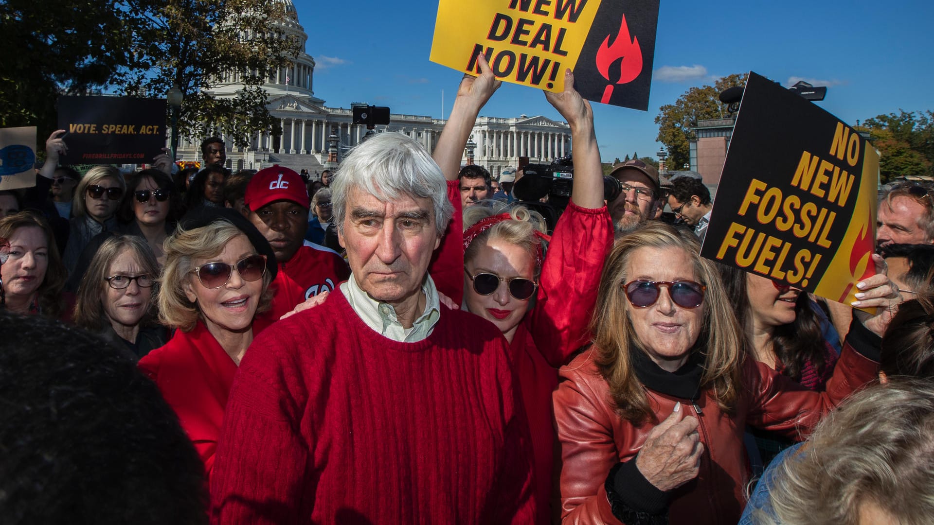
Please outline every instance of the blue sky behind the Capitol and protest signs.
[[[447, 116], [460, 73], [428, 60], [435, 2], [293, 2], [308, 33], [305, 51], [318, 64], [315, 95], [327, 106], [368, 102], [439, 118], [444, 90]], [[932, 22], [934, 3], [922, 1], [661, 0], [649, 109], [594, 103], [601, 156], [655, 157], [659, 106], [749, 70], [785, 87], [799, 78], [828, 86], [818, 104], [850, 124], [899, 108], [934, 109]], [[507, 83], [481, 115], [523, 113], [559, 120], [541, 92]]]

